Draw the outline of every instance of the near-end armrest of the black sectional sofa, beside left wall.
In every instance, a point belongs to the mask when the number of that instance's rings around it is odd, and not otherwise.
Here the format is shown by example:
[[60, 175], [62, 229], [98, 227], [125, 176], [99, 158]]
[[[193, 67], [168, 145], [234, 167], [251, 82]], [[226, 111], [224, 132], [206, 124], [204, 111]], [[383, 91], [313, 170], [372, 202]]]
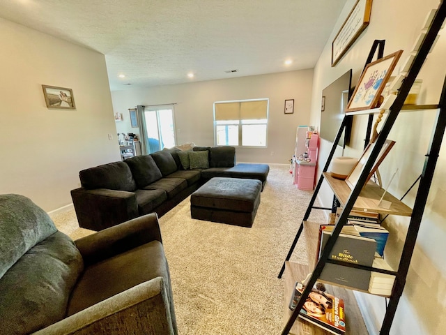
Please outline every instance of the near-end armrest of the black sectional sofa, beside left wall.
[[71, 198], [81, 228], [102, 230], [139, 216], [133, 192], [76, 188]]

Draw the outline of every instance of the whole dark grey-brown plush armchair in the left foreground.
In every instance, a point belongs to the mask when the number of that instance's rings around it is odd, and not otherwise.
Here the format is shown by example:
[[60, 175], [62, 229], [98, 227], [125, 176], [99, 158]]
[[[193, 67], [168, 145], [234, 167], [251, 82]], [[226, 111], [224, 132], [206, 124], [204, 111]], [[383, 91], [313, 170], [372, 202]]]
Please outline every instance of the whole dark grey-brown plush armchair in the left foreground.
[[0, 334], [178, 334], [156, 214], [72, 241], [0, 195]]

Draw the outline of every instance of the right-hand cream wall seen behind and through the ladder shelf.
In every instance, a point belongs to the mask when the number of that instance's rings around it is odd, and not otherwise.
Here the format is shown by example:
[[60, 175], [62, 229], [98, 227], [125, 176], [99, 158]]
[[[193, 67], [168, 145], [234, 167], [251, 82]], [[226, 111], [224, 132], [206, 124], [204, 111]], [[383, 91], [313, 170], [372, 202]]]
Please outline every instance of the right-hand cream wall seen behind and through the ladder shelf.
[[[399, 68], [406, 61], [415, 39], [420, 34], [427, 13], [429, 10], [438, 7], [438, 1], [436, 0], [374, 0], [369, 27], [362, 33], [339, 64], [332, 68], [330, 65], [332, 39], [337, 34], [354, 3], [355, 0], [347, 1], [337, 26], [334, 27], [332, 36], [325, 45], [323, 54], [321, 54], [314, 69], [310, 119], [312, 124], [319, 124], [322, 90], [349, 68], [353, 68], [353, 84], [355, 84], [375, 39], [385, 39], [384, 54], [390, 54], [400, 49], [404, 50], [399, 65], [394, 72], [395, 74], [398, 73]], [[418, 101], [420, 104], [438, 103], [440, 97], [446, 74], [444, 61], [446, 38], [441, 35], [445, 35], [444, 29], [440, 32], [440, 39], [433, 52], [429, 54], [419, 75], [419, 78], [423, 80], [422, 93]], [[390, 187], [390, 192], [397, 198], [400, 198], [406, 192], [410, 184], [422, 172], [424, 154], [426, 154], [427, 144], [431, 137], [435, 114], [436, 112], [432, 111], [401, 113], [397, 123], [392, 128], [388, 138], [395, 140], [397, 143], [385, 158], [380, 168], [380, 174], [383, 177], [383, 184], [387, 185], [394, 171], [399, 168], [397, 177]], [[366, 126], [367, 117], [354, 117], [351, 147], [346, 148], [346, 156], [360, 156], [364, 146]], [[321, 142], [321, 162], [326, 160], [330, 148], [330, 142]], [[340, 154], [339, 150], [335, 156]], [[444, 299], [446, 293], [446, 253], [444, 252], [446, 208], [442, 201], [446, 196], [445, 154], [446, 148], [443, 146], [422, 226], [418, 234], [415, 252], [413, 253], [406, 288], [399, 302], [391, 334], [440, 335], [445, 333], [446, 318], [442, 316], [446, 313], [446, 301]], [[322, 166], [322, 164], [319, 165], [320, 170]], [[320, 195], [323, 205], [330, 207], [332, 193], [325, 182]], [[414, 198], [415, 192], [412, 191], [406, 197], [406, 204], [413, 206]], [[396, 268], [408, 227], [408, 218], [390, 216], [385, 222], [387, 229], [391, 232], [385, 257]], [[378, 334], [380, 322], [385, 313], [383, 298], [362, 294], [357, 295], [357, 297], [363, 306], [364, 318], [370, 322], [372, 327], [371, 334]]]

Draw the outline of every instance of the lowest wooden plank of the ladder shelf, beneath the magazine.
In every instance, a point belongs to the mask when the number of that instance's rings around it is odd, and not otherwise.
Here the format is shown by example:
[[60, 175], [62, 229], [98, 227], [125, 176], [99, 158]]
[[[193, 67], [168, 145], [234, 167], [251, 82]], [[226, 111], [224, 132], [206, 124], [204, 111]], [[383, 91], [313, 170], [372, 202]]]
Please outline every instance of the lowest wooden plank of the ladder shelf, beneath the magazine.
[[[308, 265], [301, 265], [295, 262], [285, 262], [285, 295], [284, 295], [284, 325], [289, 320], [293, 313], [288, 305], [293, 294], [294, 285], [296, 281], [305, 279], [309, 271]], [[326, 285], [330, 292], [333, 292], [337, 297], [344, 299], [344, 308], [346, 310], [346, 335], [367, 335], [367, 328], [364, 320], [357, 306], [353, 291], [344, 290], [336, 286]], [[332, 333], [313, 325], [311, 322], [297, 318], [289, 334], [293, 335], [330, 335]]]

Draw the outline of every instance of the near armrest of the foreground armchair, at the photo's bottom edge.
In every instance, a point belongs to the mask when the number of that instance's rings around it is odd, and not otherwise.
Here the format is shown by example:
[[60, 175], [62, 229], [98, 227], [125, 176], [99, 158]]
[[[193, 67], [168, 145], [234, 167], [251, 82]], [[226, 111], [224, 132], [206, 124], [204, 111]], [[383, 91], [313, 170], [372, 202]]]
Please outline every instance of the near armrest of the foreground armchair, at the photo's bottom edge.
[[172, 303], [163, 278], [157, 277], [40, 329], [33, 335], [176, 335], [175, 315], [171, 315], [169, 308]]

